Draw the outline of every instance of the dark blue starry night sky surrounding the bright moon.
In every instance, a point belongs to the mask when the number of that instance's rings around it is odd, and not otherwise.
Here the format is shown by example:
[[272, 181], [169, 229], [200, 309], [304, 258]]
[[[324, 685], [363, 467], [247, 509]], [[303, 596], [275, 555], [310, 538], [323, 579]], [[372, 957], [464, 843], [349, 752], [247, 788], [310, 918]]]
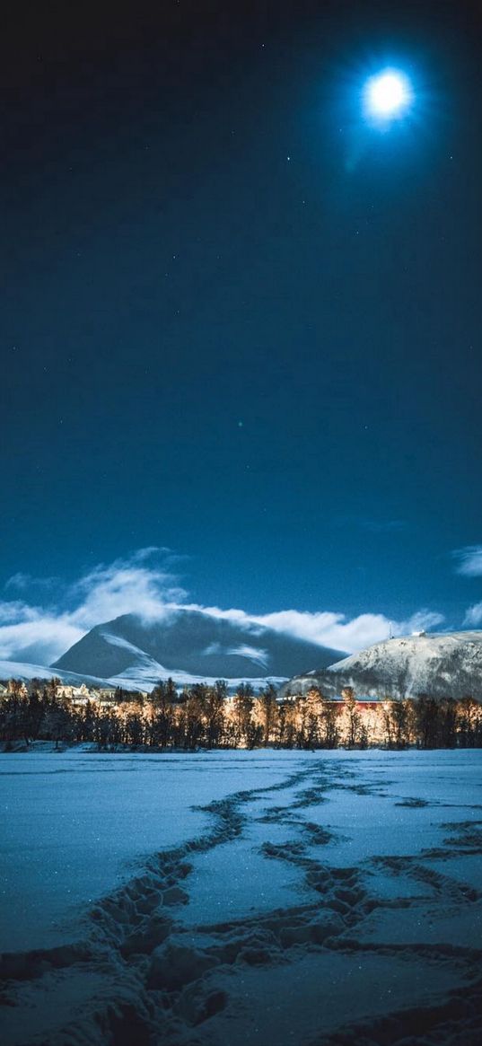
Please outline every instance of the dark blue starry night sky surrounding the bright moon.
[[[203, 604], [463, 623], [481, 29], [463, 0], [16, 6], [0, 583], [165, 546]], [[387, 65], [414, 103], [383, 130]]]

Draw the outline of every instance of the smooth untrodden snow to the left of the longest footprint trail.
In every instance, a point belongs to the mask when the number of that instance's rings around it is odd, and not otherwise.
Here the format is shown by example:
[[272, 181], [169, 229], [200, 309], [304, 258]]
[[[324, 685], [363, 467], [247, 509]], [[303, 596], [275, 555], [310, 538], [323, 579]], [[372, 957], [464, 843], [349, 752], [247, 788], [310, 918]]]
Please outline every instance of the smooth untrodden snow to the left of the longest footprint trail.
[[87, 904], [153, 852], [207, 831], [196, 806], [281, 781], [298, 761], [290, 752], [0, 754], [0, 951], [72, 937]]

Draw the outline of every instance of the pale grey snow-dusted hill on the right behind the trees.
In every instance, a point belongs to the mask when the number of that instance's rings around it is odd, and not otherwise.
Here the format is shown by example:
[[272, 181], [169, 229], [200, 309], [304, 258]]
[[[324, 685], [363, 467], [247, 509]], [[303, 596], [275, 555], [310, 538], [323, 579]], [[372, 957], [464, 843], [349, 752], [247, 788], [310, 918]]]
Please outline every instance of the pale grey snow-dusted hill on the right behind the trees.
[[482, 700], [482, 632], [387, 639], [328, 668], [321, 666], [296, 676], [282, 692], [306, 692], [313, 685], [328, 698], [339, 695], [344, 686], [352, 686], [360, 697], [431, 693], [437, 698], [470, 695]]

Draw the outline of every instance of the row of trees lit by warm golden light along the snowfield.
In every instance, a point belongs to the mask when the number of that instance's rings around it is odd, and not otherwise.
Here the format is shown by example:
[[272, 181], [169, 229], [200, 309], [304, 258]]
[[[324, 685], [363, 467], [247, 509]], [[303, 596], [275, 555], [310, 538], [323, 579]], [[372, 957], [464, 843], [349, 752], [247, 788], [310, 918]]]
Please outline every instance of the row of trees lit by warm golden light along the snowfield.
[[360, 703], [346, 687], [342, 701], [325, 699], [319, 689], [279, 702], [272, 685], [255, 695], [243, 683], [232, 698], [219, 680], [198, 683], [181, 693], [173, 682], [159, 683], [148, 696], [118, 688], [112, 702], [75, 704], [58, 693], [60, 681], [8, 684], [0, 699], [0, 741], [81, 742], [99, 750], [124, 747], [155, 751], [211, 748], [480, 748], [482, 705], [470, 697]]

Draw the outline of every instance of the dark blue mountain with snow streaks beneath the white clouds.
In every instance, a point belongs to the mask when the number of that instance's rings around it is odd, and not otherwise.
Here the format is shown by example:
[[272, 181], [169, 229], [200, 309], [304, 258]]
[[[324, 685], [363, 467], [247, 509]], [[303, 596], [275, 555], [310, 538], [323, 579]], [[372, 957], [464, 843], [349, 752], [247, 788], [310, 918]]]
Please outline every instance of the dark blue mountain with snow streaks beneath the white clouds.
[[51, 667], [146, 689], [171, 676], [179, 683], [226, 679], [282, 682], [340, 652], [283, 635], [254, 621], [177, 609], [160, 620], [124, 614], [98, 624]]

